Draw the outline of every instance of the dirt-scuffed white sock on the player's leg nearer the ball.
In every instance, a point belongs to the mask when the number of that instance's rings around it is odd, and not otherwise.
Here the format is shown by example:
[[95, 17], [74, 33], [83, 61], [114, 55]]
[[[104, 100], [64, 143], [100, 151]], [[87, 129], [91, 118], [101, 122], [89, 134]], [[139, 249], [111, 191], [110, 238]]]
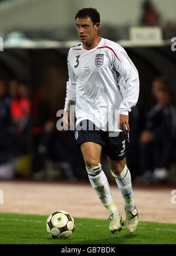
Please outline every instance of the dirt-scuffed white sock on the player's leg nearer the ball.
[[89, 176], [90, 184], [92, 185], [94, 191], [96, 191], [96, 194], [100, 198], [103, 206], [106, 207], [109, 215], [114, 213], [119, 214], [119, 211], [117, 210], [111, 196], [109, 182], [104, 174], [104, 171], [101, 169], [101, 164], [86, 167], [86, 170]]

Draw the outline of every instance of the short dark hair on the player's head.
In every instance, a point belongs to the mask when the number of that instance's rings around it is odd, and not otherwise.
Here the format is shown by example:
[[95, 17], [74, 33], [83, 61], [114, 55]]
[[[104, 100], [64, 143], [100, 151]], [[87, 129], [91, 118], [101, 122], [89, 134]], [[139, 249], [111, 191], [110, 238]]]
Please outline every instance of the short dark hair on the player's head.
[[93, 22], [93, 25], [95, 25], [97, 22], [100, 22], [100, 14], [95, 8], [82, 8], [77, 11], [77, 14], [75, 15], [75, 19], [86, 19], [89, 17], [91, 21]]

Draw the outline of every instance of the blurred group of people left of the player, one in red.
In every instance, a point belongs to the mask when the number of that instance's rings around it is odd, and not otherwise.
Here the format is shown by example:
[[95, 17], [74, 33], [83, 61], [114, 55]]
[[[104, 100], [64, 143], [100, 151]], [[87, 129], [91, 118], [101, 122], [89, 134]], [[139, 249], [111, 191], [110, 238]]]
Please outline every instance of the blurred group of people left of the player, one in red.
[[21, 80], [0, 79], [0, 137], [0, 179], [82, 177], [74, 132], [58, 132], [45, 93]]

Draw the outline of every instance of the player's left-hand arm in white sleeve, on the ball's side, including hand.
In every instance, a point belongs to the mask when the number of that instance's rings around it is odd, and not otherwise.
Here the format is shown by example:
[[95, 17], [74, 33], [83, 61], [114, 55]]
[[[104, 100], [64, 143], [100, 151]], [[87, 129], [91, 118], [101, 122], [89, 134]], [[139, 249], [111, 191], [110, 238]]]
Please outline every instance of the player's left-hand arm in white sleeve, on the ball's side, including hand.
[[72, 125], [72, 120], [70, 120], [70, 106], [73, 106], [76, 103], [76, 79], [75, 73], [73, 72], [72, 67], [70, 65], [70, 52], [67, 58], [67, 66], [69, 72], [69, 80], [66, 84], [66, 99], [62, 120], [63, 126], [67, 129], [70, 129], [70, 125]]

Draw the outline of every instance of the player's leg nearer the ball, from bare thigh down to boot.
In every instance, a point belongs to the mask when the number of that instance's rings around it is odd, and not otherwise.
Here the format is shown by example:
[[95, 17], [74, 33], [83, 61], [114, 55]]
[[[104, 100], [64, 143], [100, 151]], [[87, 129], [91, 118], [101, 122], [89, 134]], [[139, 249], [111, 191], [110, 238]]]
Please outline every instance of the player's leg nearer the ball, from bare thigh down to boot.
[[100, 198], [101, 203], [109, 212], [110, 231], [112, 233], [115, 231], [120, 231], [121, 216], [116, 205], [114, 204], [109, 182], [100, 164], [101, 146], [97, 143], [86, 142], [81, 144], [80, 149], [82, 150], [90, 184], [92, 184], [92, 187], [94, 188], [94, 191], [96, 191], [97, 196]]

